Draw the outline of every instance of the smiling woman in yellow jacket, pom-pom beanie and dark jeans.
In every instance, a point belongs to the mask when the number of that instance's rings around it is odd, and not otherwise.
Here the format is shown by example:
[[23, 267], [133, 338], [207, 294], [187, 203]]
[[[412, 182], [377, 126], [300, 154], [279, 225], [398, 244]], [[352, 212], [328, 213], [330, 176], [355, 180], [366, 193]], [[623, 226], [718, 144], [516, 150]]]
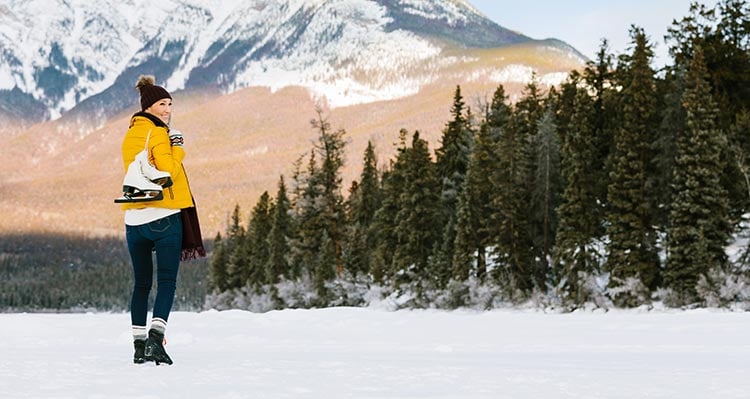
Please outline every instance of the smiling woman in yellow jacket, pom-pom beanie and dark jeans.
[[[148, 158], [156, 169], [171, 175], [172, 185], [164, 189], [163, 199], [131, 202], [125, 210], [125, 232], [133, 263], [133, 296], [130, 318], [133, 327], [133, 362], [154, 361], [172, 364], [164, 350], [164, 333], [174, 301], [177, 271], [182, 254], [180, 210], [193, 206], [182, 160], [182, 134], [170, 130], [172, 96], [154, 85], [153, 76], [141, 76], [136, 88], [141, 95], [141, 111], [130, 119], [130, 128], [122, 143], [122, 158], [127, 170], [136, 154], [147, 147]], [[148, 297], [153, 280], [152, 251], [156, 252], [157, 291], [151, 325], [146, 330]]]

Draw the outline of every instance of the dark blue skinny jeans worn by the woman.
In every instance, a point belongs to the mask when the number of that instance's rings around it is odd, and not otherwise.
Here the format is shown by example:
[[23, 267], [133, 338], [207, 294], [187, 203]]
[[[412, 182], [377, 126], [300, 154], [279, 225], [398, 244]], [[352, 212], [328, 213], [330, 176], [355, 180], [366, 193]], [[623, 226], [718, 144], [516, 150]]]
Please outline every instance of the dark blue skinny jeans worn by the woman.
[[152, 251], [156, 251], [156, 299], [153, 317], [169, 318], [177, 286], [182, 254], [182, 219], [174, 214], [140, 226], [125, 226], [130, 260], [133, 263], [133, 296], [130, 319], [134, 326], [145, 326], [148, 296], [153, 283]]

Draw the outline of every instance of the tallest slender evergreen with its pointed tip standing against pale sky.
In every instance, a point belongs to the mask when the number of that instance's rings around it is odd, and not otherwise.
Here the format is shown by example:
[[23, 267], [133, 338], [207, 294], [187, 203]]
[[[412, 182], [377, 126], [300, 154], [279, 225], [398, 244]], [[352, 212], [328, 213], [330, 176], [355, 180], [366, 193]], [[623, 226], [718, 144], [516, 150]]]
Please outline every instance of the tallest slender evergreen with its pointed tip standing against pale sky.
[[[638, 292], [622, 292], [621, 306], [637, 306], [650, 297], [659, 283], [659, 258], [653, 228], [650, 195], [656, 107], [652, 50], [642, 29], [633, 27], [635, 49], [625, 58], [621, 112], [622, 126], [615, 134], [609, 185], [610, 287], [639, 286]], [[641, 284], [634, 282], [640, 281]]]

